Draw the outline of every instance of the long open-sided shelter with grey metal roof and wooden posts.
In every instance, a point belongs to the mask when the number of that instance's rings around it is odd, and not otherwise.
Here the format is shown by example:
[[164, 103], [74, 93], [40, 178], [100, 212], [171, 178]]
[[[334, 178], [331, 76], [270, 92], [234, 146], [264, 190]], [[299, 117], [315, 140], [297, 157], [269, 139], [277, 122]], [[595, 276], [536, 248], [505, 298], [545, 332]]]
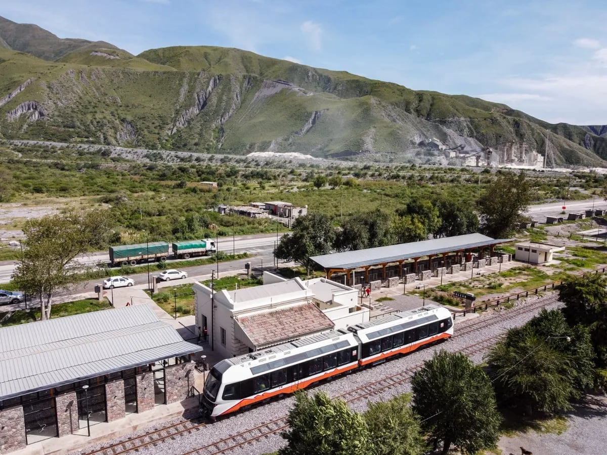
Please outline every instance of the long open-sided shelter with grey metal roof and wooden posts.
[[[357, 251], [324, 254], [310, 257], [325, 269], [327, 278], [341, 272], [345, 284], [364, 284], [369, 281], [385, 281], [406, 274], [433, 271], [438, 267], [449, 267], [494, 254], [494, 248], [510, 238], [495, 240], [482, 234], [465, 234], [454, 237], [435, 238], [397, 245], [380, 246]], [[355, 271], [362, 271], [358, 276]], [[351, 275], [354, 275], [353, 277]], [[341, 281], [340, 278], [333, 278]]]

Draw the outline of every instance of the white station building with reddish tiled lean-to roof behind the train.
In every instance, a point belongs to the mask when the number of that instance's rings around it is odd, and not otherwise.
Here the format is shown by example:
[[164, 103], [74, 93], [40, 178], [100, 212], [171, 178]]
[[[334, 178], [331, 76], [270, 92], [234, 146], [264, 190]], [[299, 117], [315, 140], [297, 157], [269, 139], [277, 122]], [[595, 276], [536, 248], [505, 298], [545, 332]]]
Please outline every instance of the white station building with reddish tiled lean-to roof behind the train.
[[358, 303], [358, 290], [326, 278], [287, 280], [263, 273], [263, 285], [212, 292], [194, 284], [200, 334], [223, 357], [286, 343], [307, 335], [367, 322], [370, 309]]

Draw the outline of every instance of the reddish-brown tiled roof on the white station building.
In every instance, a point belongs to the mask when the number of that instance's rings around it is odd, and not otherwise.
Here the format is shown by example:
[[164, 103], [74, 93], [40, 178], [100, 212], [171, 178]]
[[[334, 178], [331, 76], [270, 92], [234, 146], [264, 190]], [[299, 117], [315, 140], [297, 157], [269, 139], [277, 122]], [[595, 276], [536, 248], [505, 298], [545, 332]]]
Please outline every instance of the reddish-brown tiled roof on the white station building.
[[238, 317], [236, 323], [236, 338], [253, 349], [286, 343], [334, 327], [333, 321], [314, 303]]

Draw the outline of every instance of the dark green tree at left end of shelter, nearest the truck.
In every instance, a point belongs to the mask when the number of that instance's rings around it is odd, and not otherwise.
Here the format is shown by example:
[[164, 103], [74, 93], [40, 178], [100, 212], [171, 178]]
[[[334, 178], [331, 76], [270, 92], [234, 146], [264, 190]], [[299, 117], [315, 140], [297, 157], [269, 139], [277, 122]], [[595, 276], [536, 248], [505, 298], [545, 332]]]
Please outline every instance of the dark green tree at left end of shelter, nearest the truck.
[[328, 254], [333, 248], [335, 229], [327, 215], [310, 213], [296, 218], [293, 233], [283, 235], [276, 247], [276, 257], [297, 261], [310, 274], [310, 256]]

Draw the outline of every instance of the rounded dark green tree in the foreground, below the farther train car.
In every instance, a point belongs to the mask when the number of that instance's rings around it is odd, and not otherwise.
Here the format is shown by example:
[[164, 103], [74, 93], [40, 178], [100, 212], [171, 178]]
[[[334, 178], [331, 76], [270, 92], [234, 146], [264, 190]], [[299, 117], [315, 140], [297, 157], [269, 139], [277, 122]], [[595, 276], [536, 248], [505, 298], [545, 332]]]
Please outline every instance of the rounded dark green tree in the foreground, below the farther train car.
[[413, 410], [422, 428], [443, 441], [443, 454], [452, 443], [469, 453], [495, 447], [501, 417], [480, 366], [463, 354], [441, 350], [415, 373], [412, 386]]

